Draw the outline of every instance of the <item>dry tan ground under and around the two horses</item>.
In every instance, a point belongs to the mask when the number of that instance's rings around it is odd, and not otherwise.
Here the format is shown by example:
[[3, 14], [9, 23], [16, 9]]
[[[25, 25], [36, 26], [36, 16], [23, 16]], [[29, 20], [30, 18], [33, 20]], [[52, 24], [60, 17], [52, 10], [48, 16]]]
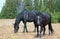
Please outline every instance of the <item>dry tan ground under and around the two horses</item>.
[[48, 26], [46, 26], [46, 35], [41, 38], [36, 38], [36, 32], [34, 30], [33, 23], [27, 23], [28, 33], [23, 32], [23, 23], [19, 24], [19, 30], [14, 33], [14, 23], [15, 19], [0, 19], [0, 39], [60, 39], [60, 23], [52, 24], [54, 29], [53, 35], [48, 35]]

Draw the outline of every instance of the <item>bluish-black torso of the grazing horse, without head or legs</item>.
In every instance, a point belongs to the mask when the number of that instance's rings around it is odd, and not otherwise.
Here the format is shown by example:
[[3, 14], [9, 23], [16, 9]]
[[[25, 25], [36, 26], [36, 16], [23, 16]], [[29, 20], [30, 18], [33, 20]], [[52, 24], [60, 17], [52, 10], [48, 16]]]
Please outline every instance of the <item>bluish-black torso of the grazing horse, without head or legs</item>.
[[35, 13], [32, 11], [24, 11], [22, 15], [22, 19], [27, 22], [33, 22], [35, 19]]

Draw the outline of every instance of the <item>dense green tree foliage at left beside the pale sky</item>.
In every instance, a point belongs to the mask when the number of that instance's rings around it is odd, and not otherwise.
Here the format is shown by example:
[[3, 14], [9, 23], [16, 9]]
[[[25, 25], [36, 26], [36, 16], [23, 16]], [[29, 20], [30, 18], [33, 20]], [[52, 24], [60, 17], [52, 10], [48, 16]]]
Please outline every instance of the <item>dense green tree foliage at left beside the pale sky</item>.
[[3, 7], [0, 18], [15, 18], [17, 15], [16, 3], [14, 0], [6, 0], [6, 4]]

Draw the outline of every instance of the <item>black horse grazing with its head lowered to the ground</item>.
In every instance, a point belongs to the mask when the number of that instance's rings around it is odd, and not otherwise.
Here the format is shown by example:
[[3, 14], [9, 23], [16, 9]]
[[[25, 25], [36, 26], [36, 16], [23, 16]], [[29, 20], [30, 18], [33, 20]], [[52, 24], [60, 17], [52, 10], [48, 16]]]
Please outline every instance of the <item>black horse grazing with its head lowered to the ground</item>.
[[[35, 25], [35, 17], [36, 17], [37, 11], [28, 11], [27, 9], [24, 9], [16, 18], [15, 24], [14, 24], [14, 32], [16, 33], [19, 29], [19, 23], [23, 21], [24, 23], [24, 30], [23, 32], [28, 32], [26, 23], [27, 22], [34, 22]], [[36, 31], [36, 27], [34, 28], [34, 31]]]

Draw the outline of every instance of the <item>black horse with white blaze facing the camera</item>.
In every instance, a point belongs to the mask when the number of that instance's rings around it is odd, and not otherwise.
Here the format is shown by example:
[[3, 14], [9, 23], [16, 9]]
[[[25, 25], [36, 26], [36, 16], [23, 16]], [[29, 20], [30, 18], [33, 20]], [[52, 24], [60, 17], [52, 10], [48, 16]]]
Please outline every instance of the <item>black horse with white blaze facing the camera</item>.
[[49, 27], [49, 35], [50, 33], [53, 33], [53, 28], [51, 25], [51, 15], [49, 13], [42, 13], [38, 12], [36, 19], [35, 19], [35, 25], [37, 27], [37, 37], [39, 36], [39, 26], [40, 28], [40, 36], [41, 32], [43, 31], [43, 35], [45, 35], [45, 26], [48, 25]]

